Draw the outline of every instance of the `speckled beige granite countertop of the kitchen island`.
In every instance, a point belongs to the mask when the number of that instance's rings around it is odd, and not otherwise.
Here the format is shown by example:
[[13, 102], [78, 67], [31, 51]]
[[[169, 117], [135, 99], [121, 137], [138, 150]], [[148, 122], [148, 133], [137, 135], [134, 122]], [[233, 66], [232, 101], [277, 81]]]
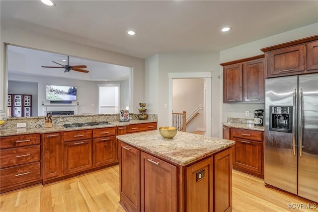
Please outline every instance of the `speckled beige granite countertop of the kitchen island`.
[[159, 130], [121, 135], [116, 138], [181, 166], [235, 144], [235, 141], [231, 140], [180, 131], [172, 140], [163, 139]]

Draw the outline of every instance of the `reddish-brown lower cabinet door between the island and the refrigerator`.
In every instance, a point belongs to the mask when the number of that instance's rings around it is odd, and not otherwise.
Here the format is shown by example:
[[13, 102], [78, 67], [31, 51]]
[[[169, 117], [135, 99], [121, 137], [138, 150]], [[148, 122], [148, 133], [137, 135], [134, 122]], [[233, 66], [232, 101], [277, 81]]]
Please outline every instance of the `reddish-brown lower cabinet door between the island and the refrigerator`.
[[233, 155], [233, 167], [241, 167], [256, 173], [262, 173], [262, 143], [244, 139], [236, 141]]

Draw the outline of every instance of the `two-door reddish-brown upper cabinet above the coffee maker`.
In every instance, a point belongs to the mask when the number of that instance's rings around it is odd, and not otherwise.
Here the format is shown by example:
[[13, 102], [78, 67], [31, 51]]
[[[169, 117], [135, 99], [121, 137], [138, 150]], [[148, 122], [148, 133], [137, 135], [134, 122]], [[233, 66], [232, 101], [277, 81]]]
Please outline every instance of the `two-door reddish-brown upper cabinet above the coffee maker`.
[[264, 55], [221, 66], [223, 103], [264, 102]]

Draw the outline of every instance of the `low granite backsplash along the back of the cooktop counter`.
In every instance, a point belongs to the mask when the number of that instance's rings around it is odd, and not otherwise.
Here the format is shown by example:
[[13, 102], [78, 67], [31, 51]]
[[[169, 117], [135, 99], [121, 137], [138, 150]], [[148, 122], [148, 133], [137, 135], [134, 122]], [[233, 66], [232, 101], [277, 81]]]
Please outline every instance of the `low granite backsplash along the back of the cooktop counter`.
[[[129, 114], [131, 120], [138, 120], [140, 114]], [[73, 124], [83, 122], [114, 122], [119, 121], [119, 114], [85, 114], [85, 115], [70, 115], [70, 116], [53, 116], [53, 125], [56, 124]], [[148, 114], [148, 120], [158, 120], [157, 114]], [[19, 117], [8, 118], [7, 122], [1, 127], [16, 128], [17, 123], [26, 123], [26, 128], [42, 128], [44, 127], [44, 116], [37, 117]]]

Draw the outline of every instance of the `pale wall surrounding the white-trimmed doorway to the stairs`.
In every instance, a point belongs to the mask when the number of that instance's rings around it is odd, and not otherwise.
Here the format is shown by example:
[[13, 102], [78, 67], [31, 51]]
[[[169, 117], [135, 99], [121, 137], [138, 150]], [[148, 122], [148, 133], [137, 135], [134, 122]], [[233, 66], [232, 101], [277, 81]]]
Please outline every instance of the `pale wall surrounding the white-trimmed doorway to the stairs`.
[[[145, 99], [158, 97], [158, 127], [168, 125], [168, 110], [164, 109], [164, 104], [168, 104], [168, 73], [169, 72], [204, 72], [212, 71], [212, 129], [211, 135], [219, 137], [219, 107], [215, 101], [220, 99], [220, 69], [219, 69], [219, 52], [208, 53], [162, 53], [158, 54], [158, 60], [155, 57], [146, 59], [147, 66], [145, 72], [147, 74], [158, 75], [154, 78], [154, 82], [158, 81], [158, 90], [153, 89], [152, 84], [145, 87], [148, 94]], [[156, 93], [157, 91], [157, 93]]]

